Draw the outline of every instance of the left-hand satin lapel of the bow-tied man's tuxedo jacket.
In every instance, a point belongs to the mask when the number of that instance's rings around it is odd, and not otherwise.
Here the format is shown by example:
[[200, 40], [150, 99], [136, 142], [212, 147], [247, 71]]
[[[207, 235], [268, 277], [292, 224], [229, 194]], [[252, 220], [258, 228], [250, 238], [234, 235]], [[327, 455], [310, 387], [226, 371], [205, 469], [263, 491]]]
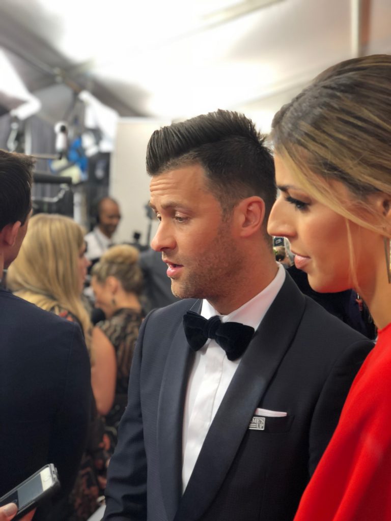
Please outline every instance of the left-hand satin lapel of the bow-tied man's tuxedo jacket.
[[[190, 309], [199, 313], [201, 304], [197, 301]], [[169, 521], [174, 519], [182, 494], [182, 424], [193, 358], [180, 320], [166, 359], [157, 413], [160, 479]]]

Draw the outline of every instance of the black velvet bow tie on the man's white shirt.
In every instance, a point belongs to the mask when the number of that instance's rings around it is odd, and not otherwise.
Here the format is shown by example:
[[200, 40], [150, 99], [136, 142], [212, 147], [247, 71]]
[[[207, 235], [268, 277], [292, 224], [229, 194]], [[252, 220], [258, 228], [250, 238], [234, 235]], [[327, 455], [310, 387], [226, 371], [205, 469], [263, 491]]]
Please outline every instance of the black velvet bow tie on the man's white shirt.
[[193, 311], [188, 311], [184, 316], [184, 329], [191, 349], [198, 351], [207, 339], [212, 338], [227, 353], [228, 360], [239, 358], [254, 334], [251, 326], [239, 322], [222, 322], [218, 316], [206, 320]]

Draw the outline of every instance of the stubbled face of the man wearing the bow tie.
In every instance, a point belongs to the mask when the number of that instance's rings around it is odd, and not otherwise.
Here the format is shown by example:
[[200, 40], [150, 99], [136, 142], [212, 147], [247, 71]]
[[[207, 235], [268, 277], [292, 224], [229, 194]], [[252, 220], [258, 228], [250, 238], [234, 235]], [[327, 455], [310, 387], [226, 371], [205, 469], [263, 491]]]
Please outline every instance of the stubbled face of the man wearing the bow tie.
[[151, 246], [162, 252], [174, 295], [217, 303], [229, 298], [240, 269], [231, 219], [207, 189], [200, 165], [170, 170], [151, 180], [151, 206], [160, 225]]

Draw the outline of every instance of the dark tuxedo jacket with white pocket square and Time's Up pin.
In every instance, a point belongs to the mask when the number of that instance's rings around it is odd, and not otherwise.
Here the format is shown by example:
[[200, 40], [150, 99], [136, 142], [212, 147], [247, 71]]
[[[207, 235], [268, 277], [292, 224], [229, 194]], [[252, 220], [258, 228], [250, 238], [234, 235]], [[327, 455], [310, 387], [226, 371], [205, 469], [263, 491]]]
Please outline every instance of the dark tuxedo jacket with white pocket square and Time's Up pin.
[[[184, 300], [146, 317], [108, 470], [105, 519], [287, 521], [373, 344], [284, 285], [243, 354], [181, 494], [182, 418], [194, 354]], [[255, 408], [287, 412], [250, 430]], [[314, 520], [315, 521], [315, 520]]]

